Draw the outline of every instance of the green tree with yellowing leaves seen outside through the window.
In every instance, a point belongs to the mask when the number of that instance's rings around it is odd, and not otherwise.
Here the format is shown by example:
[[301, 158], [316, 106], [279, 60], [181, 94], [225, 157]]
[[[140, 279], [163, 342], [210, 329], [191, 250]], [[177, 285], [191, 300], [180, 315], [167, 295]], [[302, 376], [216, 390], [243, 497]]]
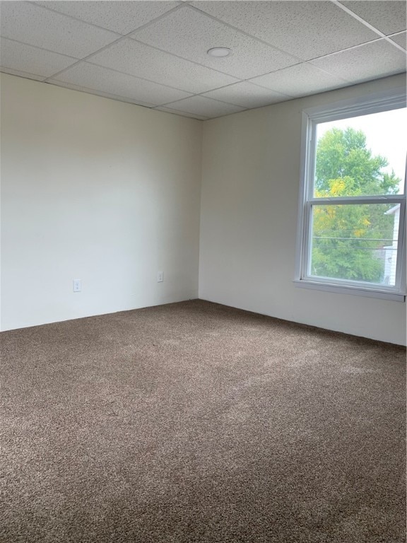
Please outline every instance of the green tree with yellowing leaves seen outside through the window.
[[[353, 128], [331, 129], [317, 144], [316, 197], [395, 194], [400, 179], [384, 171], [388, 161], [373, 156], [366, 136]], [[379, 249], [391, 245], [389, 204], [314, 206], [312, 274], [379, 282], [384, 264]]]

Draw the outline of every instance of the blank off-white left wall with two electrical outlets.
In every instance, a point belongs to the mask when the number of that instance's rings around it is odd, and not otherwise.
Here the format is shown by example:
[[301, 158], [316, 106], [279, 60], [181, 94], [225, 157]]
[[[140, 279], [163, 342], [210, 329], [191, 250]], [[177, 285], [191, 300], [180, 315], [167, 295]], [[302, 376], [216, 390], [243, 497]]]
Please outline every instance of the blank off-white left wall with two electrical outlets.
[[196, 298], [201, 129], [2, 74], [1, 329]]

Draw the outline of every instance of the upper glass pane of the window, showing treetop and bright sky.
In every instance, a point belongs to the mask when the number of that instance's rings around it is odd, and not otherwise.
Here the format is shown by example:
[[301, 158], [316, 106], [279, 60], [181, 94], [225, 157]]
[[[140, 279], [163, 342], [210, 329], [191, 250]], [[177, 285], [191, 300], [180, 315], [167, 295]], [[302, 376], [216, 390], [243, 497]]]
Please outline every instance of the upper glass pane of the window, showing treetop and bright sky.
[[407, 109], [317, 124], [314, 197], [403, 194]]

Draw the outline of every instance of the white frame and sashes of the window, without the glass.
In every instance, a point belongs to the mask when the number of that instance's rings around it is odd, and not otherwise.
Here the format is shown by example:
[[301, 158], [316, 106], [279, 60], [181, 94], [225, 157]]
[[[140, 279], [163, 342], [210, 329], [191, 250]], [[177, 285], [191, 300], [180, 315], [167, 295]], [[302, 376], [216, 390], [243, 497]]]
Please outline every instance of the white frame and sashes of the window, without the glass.
[[[406, 177], [403, 194], [362, 197], [314, 197], [314, 167], [317, 124], [348, 119], [382, 111], [406, 107], [406, 88], [394, 88], [385, 93], [374, 93], [356, 100], [343, 100], [329, 105], [312, 107], [302, 112], [301, 179], [298, 204], [295, 286], [388, 300], [405, 301], [406, 297]], [[395, 286], [371, 284], [364, 281], [346, 281], [307, 274], [310, 258], [312, 205], [338, 204], [400, 204], [399, 240], [397, 246]]]

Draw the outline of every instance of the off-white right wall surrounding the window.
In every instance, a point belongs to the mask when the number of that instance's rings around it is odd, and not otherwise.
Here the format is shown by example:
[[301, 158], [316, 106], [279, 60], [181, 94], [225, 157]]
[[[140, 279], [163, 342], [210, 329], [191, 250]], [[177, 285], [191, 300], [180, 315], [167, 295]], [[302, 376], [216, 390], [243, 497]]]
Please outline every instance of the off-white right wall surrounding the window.
[[199, 298], [406, 344], [406, 304], [296, 288], [301, 112], [404, 76], [204, 122]]

